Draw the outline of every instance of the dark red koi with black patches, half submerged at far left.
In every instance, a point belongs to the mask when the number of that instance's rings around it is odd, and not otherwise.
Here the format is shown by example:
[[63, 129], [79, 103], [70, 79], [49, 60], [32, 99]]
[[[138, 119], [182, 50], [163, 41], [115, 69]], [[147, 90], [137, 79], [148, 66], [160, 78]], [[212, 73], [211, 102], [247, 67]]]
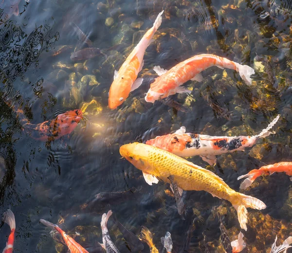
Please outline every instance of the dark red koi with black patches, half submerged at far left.
[[24, 116], [23, 111], [17, 110], [18, 117], [24, 131], [32, 138], [39, 141], [56, 140], [73, 132], [78, 123], [83, 119], [81, 110], [71, 110], [59, 114], [55, 119], [39, 124], [31, 124]]

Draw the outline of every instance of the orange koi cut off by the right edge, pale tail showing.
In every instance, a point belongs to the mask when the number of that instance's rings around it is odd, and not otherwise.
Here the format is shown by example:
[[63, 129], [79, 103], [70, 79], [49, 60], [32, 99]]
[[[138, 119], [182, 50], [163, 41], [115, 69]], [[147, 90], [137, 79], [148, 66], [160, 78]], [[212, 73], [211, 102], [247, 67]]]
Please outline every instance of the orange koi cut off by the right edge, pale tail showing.
[[[274, 163], [267, 166], [262, 166], [259, 169], [253, 169], [248, 174], [237, 178], [237, 180], [247, 178], [240, 184], [239, 188], [246, 189], [251, 186], [260, 175], [272, 175], [275, 172], [285, 172], [288, 176], [292, 176], [292, 162]], [[292, 181], [292, 177], [290, 180]]]

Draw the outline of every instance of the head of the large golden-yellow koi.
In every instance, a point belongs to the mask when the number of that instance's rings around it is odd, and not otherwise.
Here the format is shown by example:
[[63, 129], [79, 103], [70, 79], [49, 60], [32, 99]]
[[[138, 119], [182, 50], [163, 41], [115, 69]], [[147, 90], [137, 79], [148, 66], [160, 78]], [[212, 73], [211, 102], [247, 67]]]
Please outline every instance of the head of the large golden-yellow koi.
[[122, 145], [120, 147], [120, 154], [122, 157], [126, 158], [128, 162], [132, 163], [137, 169], [149, 172], [149, 150], [147, 147], [151, 146], [142, 143], [130, 143]]

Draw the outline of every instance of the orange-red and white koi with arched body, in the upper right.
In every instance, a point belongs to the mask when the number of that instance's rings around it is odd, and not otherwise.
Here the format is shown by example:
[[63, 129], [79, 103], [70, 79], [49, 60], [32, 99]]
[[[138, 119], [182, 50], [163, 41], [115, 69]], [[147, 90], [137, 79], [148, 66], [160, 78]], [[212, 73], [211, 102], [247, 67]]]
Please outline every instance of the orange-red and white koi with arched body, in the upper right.
[[150, 85], [145, 96], [146, 102], [154, 103], [160, 98], [176, 93], [191, 93], [190, 90], [180, 86], [188, 80], [201, 82], [203, 80], [201, 72], [212, 66], [236, 70], [247, 85], [252, 85], [250, 76], [255, 73], [253, 68], [214, 54], [199, 54], [184, 60], [168, 71], [155, 66], [153, 70], [159, 77]]

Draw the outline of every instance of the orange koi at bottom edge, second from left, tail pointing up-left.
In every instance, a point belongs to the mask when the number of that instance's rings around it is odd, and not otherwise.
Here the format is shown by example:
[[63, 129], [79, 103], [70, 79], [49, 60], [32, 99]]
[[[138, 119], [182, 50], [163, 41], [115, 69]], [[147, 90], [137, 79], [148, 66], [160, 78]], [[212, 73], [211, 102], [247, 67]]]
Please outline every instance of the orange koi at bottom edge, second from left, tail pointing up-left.
[[60, 235], [62, 236], [63, 240], [65, 241], [65, 243], [66, 243], [66, 245], [71, 253], [89, 253], [80, 244], [75, 242], [75, 240], [71, 236], [66, 235], [66, 233], [63, 230], [61, 230], [56, 224], [53, 224], [53, 223], [51, 223], [47, 220], [44, 220], [44, 219], [40, 219], [39, 221], [43, 225], [50, 227], [54, 231], [57, 231], [58, 233], [60, 233]]

